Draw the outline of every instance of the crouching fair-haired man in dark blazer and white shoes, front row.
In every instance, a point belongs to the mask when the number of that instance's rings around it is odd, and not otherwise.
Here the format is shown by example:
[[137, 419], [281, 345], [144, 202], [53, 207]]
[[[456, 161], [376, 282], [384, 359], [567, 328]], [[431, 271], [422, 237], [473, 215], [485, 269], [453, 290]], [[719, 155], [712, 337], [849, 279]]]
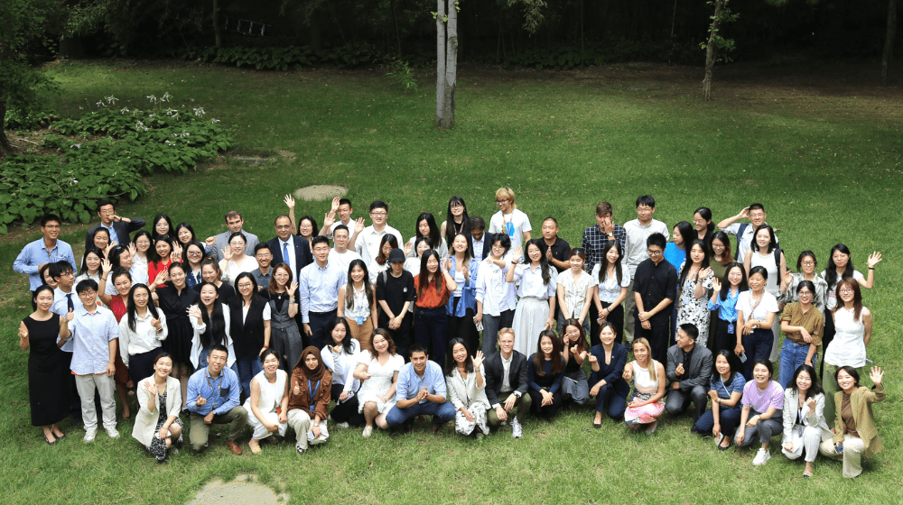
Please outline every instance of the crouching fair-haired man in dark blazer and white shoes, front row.
[[[489, 425], [511, 423], [511, 436], [520, 438], [524, 427], [520, 421], [530, 411], [530, 395], [526, 394], [526, 356], [514, 350], [514, 330], [498, 330], [498, 352], [486, 360], [486, 398], [492, 409], [487, 412]], [[517, 413], [509, 416], [509, 412]]]

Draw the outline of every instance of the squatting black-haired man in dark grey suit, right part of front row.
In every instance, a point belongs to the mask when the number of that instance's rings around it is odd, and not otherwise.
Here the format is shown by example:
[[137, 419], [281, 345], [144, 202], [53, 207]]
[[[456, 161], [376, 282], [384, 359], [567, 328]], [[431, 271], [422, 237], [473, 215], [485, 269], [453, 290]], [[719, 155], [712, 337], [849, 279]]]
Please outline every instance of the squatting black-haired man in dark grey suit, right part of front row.
[[703, 415], [709, 381], [712, 379], [712, 351], [696, 345], [699, 328], [684, 324], [677, 330], [677, 344], [668, 347], [665, 375], [668, 380], [665, 409], [679, 415], [693, 401], [694, 420]]

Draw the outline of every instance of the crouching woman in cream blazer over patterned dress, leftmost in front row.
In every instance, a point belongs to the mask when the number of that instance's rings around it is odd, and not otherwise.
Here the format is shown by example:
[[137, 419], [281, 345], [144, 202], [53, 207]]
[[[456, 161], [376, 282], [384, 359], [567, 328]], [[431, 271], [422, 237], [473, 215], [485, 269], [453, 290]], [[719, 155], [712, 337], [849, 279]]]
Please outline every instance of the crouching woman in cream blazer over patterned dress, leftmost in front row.
[[[166, 459], [166, 451], [182, 440], [182, 386], [170, 376], [172, 356], [154, 357], [154, 375], [138, 382], [138, 414], [132, 436], [154, 454], [157, 463]], [[171, 454], [178, 454], [172, 449]]]

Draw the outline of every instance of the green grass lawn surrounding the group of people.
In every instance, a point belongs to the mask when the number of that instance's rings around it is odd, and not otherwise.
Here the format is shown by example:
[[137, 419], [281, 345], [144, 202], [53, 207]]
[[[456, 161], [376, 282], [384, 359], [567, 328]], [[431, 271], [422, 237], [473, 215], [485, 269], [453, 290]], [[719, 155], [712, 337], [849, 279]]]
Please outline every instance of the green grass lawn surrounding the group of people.
[[[173, 223], [191, 222], [200, 236], [223, 231], [223, 214], [237, 208], [248, 231], [269, 239], [284, 194], [309, 184], [340, 184], [349, 187], [355, 216], [366, 216], [373, 199], [385, 200], [388, 223], [406, 239], [420, 212], [433, 212], [441, 222], [452, 195], [465, 199], [471, 216], [489, 221], [495, 189], [509, 185], [535, 236], [541, 220], [555, 216], [572, 245], [594, 223], [599, 201], [610, 201], [623, 224], [636, 217], [636, 197], [652, 194], [655, 217], [670, 226], [692, 221], [696, 207], [711, 207], [717, 222], [759, 201], [788, 263], [811, 249], [819, 271], [834, 243], [850, 246], [861, 271], [868, 254], [881, 251], [876, 288], [864, 298], [874, 314], [869, 356], [887, 371], [888, 399], [874, 409], [885, 450], [860, 479], [843, 480], [840, 463], [819, 458], [815, 478], [805, 481], [802, 462], [779, 454], [777, 438], [771, 445], [777, 454], [754, 468], [754, 450], [717, 451], [711, 438], [689, 433], [692, 419], [686, 417], [665, 415], [654, 436], [633, 435], [610, 420], [596, 430], [591, 408], [565, 412], [554, 424], [529, 420], [521, 440], [502, 431], [475, 443], [449, 427], [438, 438], [418, 427], [397, 439], [383, 433], [363, 439], [358, 430], [334, 428], [328, 444], [303, 457], [294, 454], [293, 444], [265, 445], [262, 455], [249, 454], [246, 444], [246, 454], [235, 457], [219, 437], [206, 454], [186, 448], [158, 466], [130, 437], [131, 422], [120, 422], [122, 440], [112, 442], [101, 432], [92, 445], [64, 422], [70, 436], [49, 447], [39, 428], [30, 426], [27, 356], [16, 335], [29, 313], [28, 285], [12, 263], [40, 234], [35, 224], [0, 237], [3, 501], [183, 502], [211, 479], [256, 473], [297, 503], [898, 503], [903, 303], [895, 295], [903, 286], [903, 265], [892, 235], [903, 223], [903, 106], [892, 90], [791, 89], [780, 78], [782, 69], [767, 69], [768, 80], [749, 67], [725, 71], [715, 83], [721, 98], [704, 104], [698, 98], [701, 70], [659, 70], [465, 69], [452, 132], [433, 128], [432, 86], [405, 95], [378, 69], [279, 74], [182, 62], [63, 63], [50, 69], [62, 93], [48, 106], [69, 116], [100, 96], [114, 95], [120, 106], [131, 107], [144, 106], [146, 95], [169, 92], [174, 104], [193, 99], [208, 117], [233, 126], [238, 152], [282, 153], [263, 166], [227, 157], [182, 177], [155, 175], [149, 180], [153, 194], [120, 210], [148, 220], [164, 212]], [[649, 81], [650, 75], [660, 80]], [[634, 84], [632, 78], [647, 80]], [[328, 207], [299, 201], [296, 215], [321, 221]], [[77, 257], [86, 229], [64, 225], [62, 238], [76, 246]]]

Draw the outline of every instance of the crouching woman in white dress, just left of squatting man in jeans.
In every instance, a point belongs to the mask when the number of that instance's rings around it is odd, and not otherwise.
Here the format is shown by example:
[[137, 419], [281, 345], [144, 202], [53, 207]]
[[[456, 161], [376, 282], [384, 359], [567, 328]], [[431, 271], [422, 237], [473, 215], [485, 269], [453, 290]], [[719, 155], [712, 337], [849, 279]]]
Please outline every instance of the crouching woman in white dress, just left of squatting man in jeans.
[[383, 328], [377, 328], [370, 336], [372, 351], [360, 353], [360, 363], [354, 378], [361, 381], [358, 390], [358, 412], [364, 413], [367, 426], [363, 436], [373, 434], [373, 423], [386, 429], [386, 413], [395, 407], [398, 372], [405, 366], [405, 359], [395, 353], [395, 342]]

